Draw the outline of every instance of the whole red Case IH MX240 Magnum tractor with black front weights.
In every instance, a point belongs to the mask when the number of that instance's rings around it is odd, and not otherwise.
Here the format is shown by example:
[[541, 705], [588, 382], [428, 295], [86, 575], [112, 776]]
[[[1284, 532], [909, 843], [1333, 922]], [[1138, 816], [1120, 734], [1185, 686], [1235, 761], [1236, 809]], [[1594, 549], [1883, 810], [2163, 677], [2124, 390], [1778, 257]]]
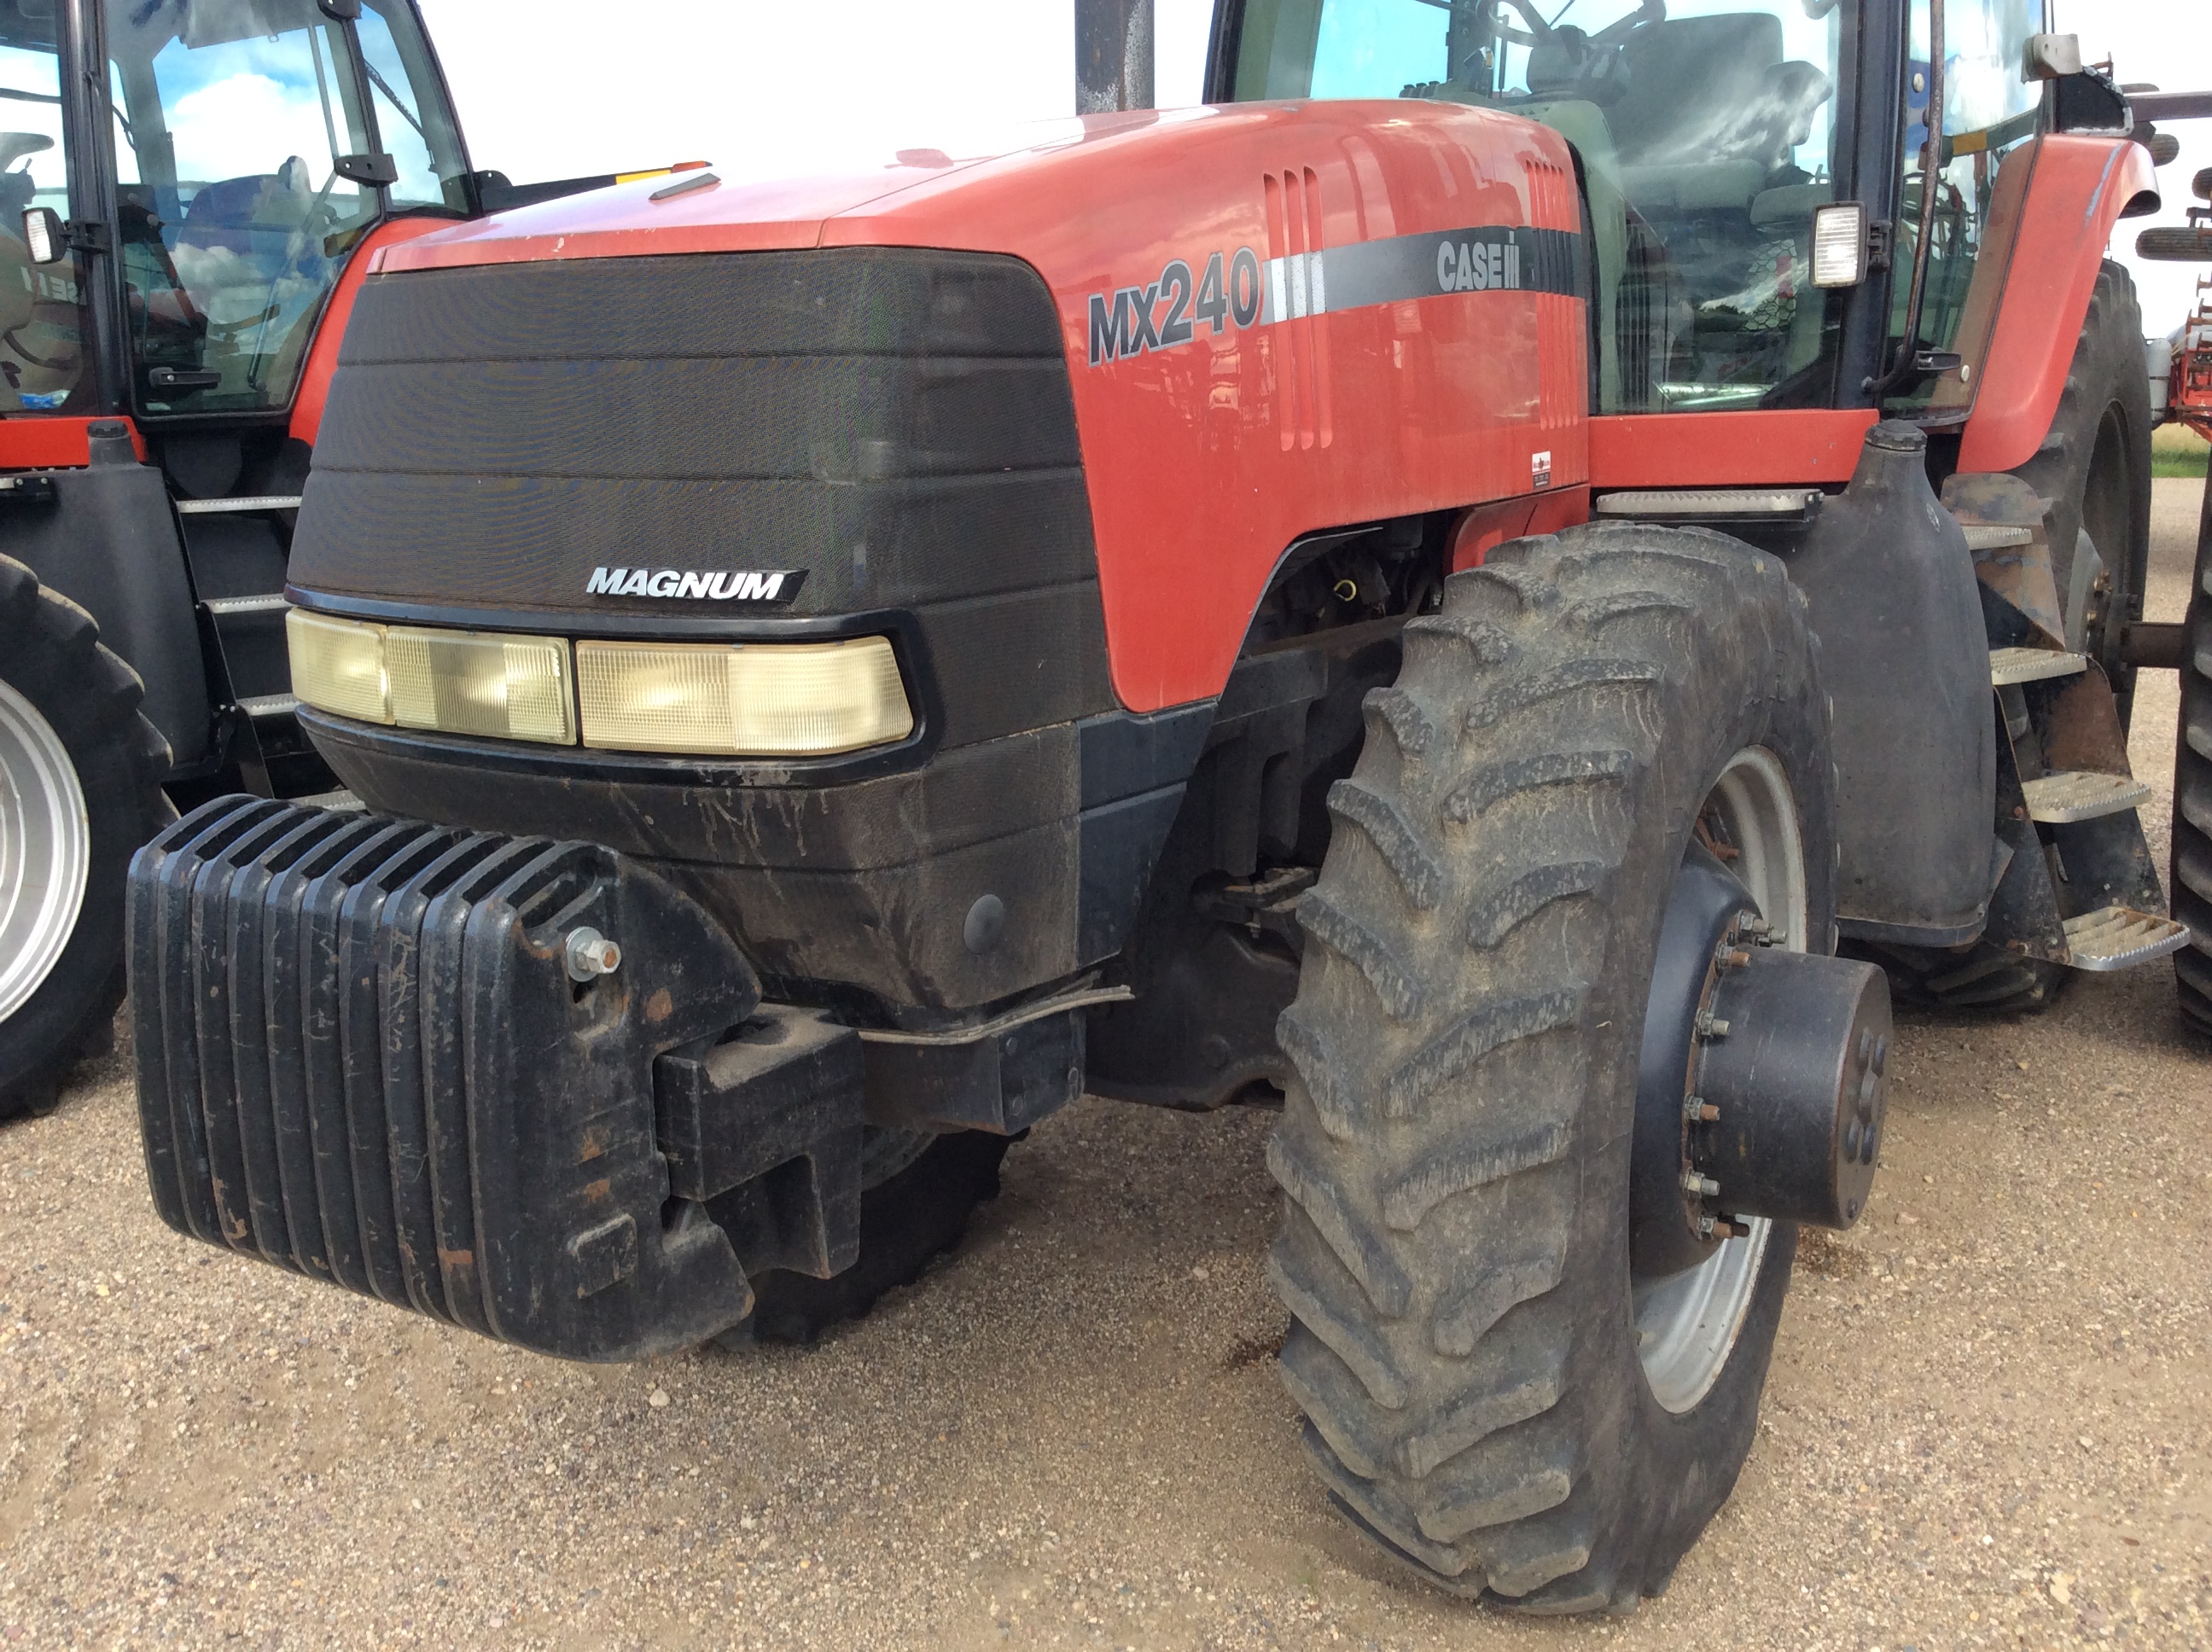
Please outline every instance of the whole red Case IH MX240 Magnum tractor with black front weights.
[[1279, 1095], [1345, 1513], [1657, 1592], [1885, 971], [2208, 1011], [2124, 745], [2152, 161], [2033, 11], [1232, 0], [1208, 108], [383, 248], [288, 571], [365, 809], [135, 860], [161, 1214], [624, 1360], [909, 1278], [1086, 1088]]

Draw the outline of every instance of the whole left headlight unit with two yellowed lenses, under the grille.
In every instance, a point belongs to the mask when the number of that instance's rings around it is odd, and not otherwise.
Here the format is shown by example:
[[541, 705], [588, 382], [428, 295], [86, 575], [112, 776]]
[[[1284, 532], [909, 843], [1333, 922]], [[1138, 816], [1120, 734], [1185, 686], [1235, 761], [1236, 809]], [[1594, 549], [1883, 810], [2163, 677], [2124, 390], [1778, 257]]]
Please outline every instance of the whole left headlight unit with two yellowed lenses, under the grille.
[[575, 694], [562, 637], [365, 626], [285, 615], [292, 692], [365, 723], [575, 745]]

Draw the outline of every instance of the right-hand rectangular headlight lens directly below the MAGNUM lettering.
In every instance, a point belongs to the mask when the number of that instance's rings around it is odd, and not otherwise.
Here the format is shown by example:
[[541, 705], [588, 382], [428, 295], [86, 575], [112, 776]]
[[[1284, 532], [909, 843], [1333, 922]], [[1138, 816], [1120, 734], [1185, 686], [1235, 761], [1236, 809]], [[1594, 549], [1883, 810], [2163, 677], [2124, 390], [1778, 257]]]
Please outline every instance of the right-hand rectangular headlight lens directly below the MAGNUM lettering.
[[580, 641], [584, 745], [830, 756], [914, 732], [887, 637], [832, 644]]

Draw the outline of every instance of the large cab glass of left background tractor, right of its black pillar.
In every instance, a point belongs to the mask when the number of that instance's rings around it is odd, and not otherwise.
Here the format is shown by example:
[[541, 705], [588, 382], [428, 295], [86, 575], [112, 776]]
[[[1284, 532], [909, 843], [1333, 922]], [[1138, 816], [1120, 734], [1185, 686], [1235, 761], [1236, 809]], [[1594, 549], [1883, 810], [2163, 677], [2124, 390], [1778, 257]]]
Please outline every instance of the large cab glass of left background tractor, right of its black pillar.
[[352, 29], [314, 0], [106, 11], [139, 407], [283, 407], [387, 203], [465, 210], [467, 164], [414, 15], [403, 0], [369, 0]]

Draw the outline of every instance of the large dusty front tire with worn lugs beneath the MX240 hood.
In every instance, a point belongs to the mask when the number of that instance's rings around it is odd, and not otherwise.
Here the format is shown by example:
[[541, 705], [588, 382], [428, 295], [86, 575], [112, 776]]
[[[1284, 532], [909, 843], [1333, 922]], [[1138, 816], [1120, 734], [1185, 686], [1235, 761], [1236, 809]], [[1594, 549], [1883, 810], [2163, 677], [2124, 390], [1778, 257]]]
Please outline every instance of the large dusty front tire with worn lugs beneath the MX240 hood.
[[1628, 524], [1453, 575], [1367, 699], [1279, 1026], [1267, 1272], [1327, 1491], [1451, 1592], [1632, 1610], [1736, 1484], [1796, 1230], [1632, 1276], [1639, 1039], [1741, 765], [1772, 805], [1747, 887], [1783, 944], [1834, 949], [1825, 708], [1776, 557]]

